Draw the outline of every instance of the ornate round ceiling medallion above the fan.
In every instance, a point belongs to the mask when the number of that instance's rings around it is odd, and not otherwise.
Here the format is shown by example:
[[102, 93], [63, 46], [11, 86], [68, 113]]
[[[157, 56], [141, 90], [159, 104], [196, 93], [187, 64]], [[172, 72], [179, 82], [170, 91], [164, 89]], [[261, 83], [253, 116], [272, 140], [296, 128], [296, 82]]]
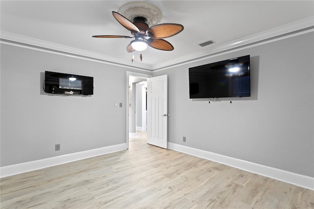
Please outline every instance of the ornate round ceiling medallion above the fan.
[[162, 19], [161, 11], [156, 6], [143, 1], [126, 3], [118, 9], [118, 13], [131, 21], [145, 19], [148, 27], [157, 25]]

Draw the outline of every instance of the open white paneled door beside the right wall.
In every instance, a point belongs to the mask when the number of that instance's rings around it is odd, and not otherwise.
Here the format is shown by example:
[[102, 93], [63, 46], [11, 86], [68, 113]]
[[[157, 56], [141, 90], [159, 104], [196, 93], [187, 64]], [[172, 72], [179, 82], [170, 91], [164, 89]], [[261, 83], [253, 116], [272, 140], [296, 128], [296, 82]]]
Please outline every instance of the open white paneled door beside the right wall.
[[147, 143], [168, 148], [168, 76], [147, 80]]

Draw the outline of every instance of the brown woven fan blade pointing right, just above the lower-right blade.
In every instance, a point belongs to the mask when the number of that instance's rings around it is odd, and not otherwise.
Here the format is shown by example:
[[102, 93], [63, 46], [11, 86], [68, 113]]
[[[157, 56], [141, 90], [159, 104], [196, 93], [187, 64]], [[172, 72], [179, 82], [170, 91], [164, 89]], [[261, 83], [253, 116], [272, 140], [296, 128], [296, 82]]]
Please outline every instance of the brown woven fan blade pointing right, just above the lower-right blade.
[[146, 33], [152, 33], [154, 38], [168, 38], [180, 33], [183, 30], [183, 25], [166, 23], [159, 24], [148, 28]]

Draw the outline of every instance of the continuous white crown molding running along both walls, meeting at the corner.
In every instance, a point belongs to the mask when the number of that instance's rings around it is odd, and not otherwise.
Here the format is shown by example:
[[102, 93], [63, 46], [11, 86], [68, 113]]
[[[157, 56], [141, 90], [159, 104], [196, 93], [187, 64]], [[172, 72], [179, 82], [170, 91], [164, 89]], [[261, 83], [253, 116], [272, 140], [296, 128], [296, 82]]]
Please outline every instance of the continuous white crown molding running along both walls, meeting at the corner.
[[[6, 31], [0, 31], [0, 38], [3, 39], [1, 40], [1, 43], [4, 43], [4, 44], [11, 44], [11, 45], [16, 45], [16, 46], [19, 45], [20, 47], [21, 46], [23, 47], [23, 44], [26, 44], [29, 46], [24, 46], [24, 47], [30, 48], [31, 46], [33, 46], [32, 49], [35, 49], [35, 50], [44, 51], [46, 49], [46, 52], [49, 52], [49, 50], [51, 50], [50, 52], [52, 53], [63, 52], [65, 55], [72, 55], [72, 56], [77, 55], [78, 58], [90, 59], [93, 61], [103, 62], [103, 63], [111, 64], [111, 65], [123, 66], [123, 67], [146, 71], [146, 72], [156, 72], [160, 70], [165, 70], [170, 67], [180, 66], [186, 63], [206, 59], [218, 53], [224, 53], [226, 51], [232, 51], [232, 50], [241, 50], [244, 48], [253, 47], [253, 46], [277, 41], [280, 39], [285, 39], [291, 36], [296, 36], [303, 33], [311, 32], [311, 31], [314, 31], [313, 28], [310, 28], [313, 26], [314, 26], [314, 16], [300, 20], [300, 21], [296, 21], [296, 22], [293, 22], [284, 26], [279, 26], [270, 30], [266, 30], [261, 33], [257, 33], [257, 34], [247, 36], [241, 39], [237, 39], [235, 41], [232, 41], [226, 44], [217, 45], [217, 46], [210, 45], [210, 49], [207, 51], [189, 54], [189, 55], [180, 57], [178, 59], [174, 59], [169, 62], [163, 62], [154, 66], [149, 66], [145, 64], [130, 65], [129, 63], [124, 62], [123, 60], [116, 59], [114, 57], [109, 57], [104, 54], [84, 51], [84, 50], [80, 50], [80, 49], [76, 49], [76, 48], [72, 48], [72, 47], [68, 47], [68, 46], [64, 46], [60, 44], [55, 44], [52, 42], [47, 42], [47, 41], [43, 41], [39, 39], [34, 39], [34, 38], [6, 32]], [[304, 31], [300, 31], [300, 30], [304, 30]], [[10, 43], [10, 41], [14, 43]], [[36, 49], [35, 47], [39, 47], [42, 49]]]

